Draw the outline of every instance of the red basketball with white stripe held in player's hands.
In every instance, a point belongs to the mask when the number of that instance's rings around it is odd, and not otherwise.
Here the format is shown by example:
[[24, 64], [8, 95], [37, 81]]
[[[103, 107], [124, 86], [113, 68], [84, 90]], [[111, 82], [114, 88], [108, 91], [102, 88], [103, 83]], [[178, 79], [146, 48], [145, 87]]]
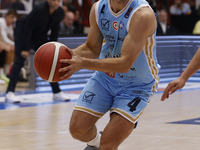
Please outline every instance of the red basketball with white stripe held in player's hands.
[[48, 42], [40, 46], [34, 55], [36, 73], [45, 81], [59, 82], [65, 72], [58, 72], [68, 64], [61, 63], [60, 59], [71, 59], [68, 47], [59, 42]]

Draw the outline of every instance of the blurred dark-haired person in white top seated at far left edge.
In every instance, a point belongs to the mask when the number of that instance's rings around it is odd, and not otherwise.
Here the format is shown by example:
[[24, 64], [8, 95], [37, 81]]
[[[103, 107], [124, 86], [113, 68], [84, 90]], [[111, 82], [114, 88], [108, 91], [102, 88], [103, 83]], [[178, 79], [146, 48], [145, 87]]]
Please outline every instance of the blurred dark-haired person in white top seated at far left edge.
[[[10, 9], [5, 18], [0, 18], [0, 28], [1, 28], [1, 37], [3, 42], [10, 44], [11, 49], [10, 51], [6, 52], [6, 62], [5, 62], [5, 70], [0, 73], [0, 79], [9, 82], [9, 78], [5, 76], [9, 73], [9, 68], [14, 61], [14, 31], [13, 31], [13, 24], [17, 18], [17, 11], [15, 9]], [[4, 74], [5, 73], [5, 74]]]

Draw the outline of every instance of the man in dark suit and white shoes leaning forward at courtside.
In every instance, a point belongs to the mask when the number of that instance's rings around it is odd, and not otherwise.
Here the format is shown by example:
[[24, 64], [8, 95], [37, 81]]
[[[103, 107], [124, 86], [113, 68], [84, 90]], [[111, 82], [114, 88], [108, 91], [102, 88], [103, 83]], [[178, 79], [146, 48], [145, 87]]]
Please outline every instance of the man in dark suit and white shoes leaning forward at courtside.
[[[24, 61], [29, 56], [29, 50], [37, 50], [42, 44], [56, 41], [59, 24], [64, 17], [64, 11], [59, 7], [61, 0], [47, 0], [36, 5], [30, 14], [20, 19], [15, 28], [15, 62], [12, 67], [10, 82], [5, 101], [20, 102], [14, 91]], [[50, 35], [48, 35], [50, 33]], [[48, 40], [49, 38], [49, 40]], [[50, 83], [53, 90], [53, 100], [66, 101], [69, 98], [60, 90], [58, 83]]]

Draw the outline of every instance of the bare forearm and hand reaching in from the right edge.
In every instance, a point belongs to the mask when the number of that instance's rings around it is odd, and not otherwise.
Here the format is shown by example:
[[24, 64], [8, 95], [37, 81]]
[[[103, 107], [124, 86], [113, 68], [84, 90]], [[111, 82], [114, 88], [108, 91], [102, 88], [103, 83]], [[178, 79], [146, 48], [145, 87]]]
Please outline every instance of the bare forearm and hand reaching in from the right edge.
[[176, 92], [178, 89], [181, 89], [185, 86], [186, 81], [200, 69], [200, 48], [197, 50], [196, 54], [183, 71], [181, 76], [174, 81], [170, 82], [165, 88], [164, 93], [161, 97], [161, 101], [164, 101], [166, 98], [169, 98], [169, 95]]

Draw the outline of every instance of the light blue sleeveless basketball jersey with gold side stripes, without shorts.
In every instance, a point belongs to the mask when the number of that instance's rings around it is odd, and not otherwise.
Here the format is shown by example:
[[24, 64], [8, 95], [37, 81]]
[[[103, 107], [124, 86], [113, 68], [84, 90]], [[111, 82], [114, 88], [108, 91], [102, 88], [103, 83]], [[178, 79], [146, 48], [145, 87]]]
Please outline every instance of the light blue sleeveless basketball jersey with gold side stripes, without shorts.
[[[121, 56], [121, 48], [128, 34], [130, 20], [141, 7], [150, 7], [145, 0], [129, 0], [128, 4], [118, 13], [110, 8], [110, 0], [100, 0], [95, 7], [96, 22], [104, 36], [100, 59]], [[141, 54], [128, 73], [104, 73], [96, 71], [101, 77], [115, 85], [132, 84], [145, 86], [155, 83], [152, 92], [156, 92], [159, 82], [159, 64], [156, 58], [156, 33], [148, 38]]]

